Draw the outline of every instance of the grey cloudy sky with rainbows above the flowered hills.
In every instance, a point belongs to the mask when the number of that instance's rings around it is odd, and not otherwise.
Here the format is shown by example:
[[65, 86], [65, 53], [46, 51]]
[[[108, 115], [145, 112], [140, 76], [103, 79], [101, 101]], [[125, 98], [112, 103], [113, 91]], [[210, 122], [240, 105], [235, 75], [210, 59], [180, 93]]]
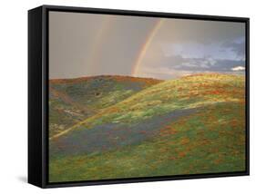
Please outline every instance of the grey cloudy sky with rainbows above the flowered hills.
[[49, 13], [49, 78], [245, 72], [245, 24]]

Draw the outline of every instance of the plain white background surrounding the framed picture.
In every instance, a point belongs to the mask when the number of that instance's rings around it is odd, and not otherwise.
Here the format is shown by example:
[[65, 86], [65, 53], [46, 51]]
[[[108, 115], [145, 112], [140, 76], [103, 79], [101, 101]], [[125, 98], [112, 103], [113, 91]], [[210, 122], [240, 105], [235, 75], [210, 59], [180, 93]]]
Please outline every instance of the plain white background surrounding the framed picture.
[[[251, 17], [251, 176], [190, 179], [149, 183], [37, 189], [26, 184], [27, 146], [27, 10], [38, 5], [73, 5], [182, 14]], [[255, 36], [256, 14], [252, 0], [8, 0], [0, 11], [0, 182], [1, 193], [242, 193], [250, 192], [256, 180]]]

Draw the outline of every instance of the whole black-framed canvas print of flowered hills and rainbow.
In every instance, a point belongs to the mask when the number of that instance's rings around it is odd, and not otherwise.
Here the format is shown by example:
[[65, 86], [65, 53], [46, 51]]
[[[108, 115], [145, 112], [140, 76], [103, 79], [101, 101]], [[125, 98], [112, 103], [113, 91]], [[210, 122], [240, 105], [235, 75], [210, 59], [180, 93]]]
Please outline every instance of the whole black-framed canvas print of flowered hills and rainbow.
[[249, 18], [28, 12], [28, 182], [249, 175]]

